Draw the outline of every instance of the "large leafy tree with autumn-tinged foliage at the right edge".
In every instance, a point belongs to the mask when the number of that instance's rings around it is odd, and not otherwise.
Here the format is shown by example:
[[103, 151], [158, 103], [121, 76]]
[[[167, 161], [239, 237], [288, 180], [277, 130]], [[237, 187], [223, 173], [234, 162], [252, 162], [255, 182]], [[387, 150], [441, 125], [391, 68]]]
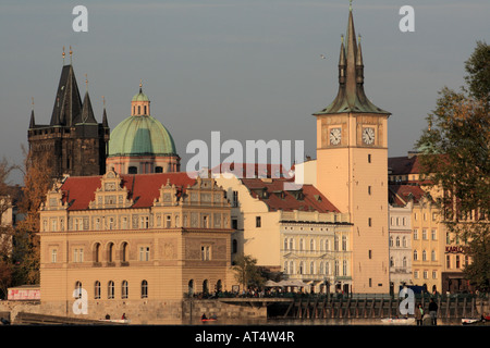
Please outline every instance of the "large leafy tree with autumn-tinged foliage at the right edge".
[[465, 65], [467, 88], [442, 88], [417, 141], [421, 174], [437, 192], [445, 226], [469, 244], [465, 276], [483, 290], [490, 289], [489, 66], [490, 46], [478, 42]]

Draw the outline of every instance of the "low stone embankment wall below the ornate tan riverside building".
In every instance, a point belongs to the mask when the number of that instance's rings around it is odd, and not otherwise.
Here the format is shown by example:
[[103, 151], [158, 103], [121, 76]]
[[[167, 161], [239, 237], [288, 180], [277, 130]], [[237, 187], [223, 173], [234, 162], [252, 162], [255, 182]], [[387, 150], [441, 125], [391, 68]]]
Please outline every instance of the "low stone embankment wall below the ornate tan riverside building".
[[229, 304], [219, 300], [168, 300], [168, 301], [89, 301], [87, 314], [75, 314], [73, 302], [39, 301], [0, 301], [0, 313], [15, 323], [20, 312], [61, 315], [101, 320], [109, 314], [111, 319], [121, 319], [124, 313], [131, 324], [166, 325], [197, 323], [203, 313], [208, 318], [216, 315], [219, 320], [258, 320], [267, 319], [266, 307], [250, 307], [248, 304]]

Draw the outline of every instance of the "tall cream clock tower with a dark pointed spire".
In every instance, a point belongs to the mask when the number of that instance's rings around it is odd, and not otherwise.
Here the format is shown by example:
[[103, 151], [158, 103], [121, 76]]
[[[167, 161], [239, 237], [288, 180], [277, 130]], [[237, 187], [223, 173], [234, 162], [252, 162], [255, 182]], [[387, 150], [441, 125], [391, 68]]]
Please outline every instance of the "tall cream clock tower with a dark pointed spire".
[[388, 138], [390, 116], [364, 91], [360, 38], [352, 5], [339, 58], [339, 92], [317, 119], [317, 187], [353, 223], [353, 293], [388, 293]]

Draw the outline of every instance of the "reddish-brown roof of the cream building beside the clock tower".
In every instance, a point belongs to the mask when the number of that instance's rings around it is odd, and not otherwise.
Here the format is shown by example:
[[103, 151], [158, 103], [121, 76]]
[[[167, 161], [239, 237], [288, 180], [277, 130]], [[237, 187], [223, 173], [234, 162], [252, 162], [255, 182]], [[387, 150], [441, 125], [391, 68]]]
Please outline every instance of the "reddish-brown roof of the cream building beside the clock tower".
[[[315, 186], [303, 185], [298, 190], [284, 190], [286, 178], [242, 178], [254, 198], [265, 202], [270, 211], [340, 212]], [[264, 195], [265, 194], [265, 195]]]

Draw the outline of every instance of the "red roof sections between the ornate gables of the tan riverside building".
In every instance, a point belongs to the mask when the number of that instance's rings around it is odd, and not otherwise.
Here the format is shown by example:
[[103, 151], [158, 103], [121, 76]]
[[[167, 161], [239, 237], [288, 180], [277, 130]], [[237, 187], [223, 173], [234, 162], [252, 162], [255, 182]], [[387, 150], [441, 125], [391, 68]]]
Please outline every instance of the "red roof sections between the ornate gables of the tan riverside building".
[[[159, 189], [167, 182], [170, 185], [181, 187], [193, 186], [195, 179], [188, 177], [187, 173], [159, 173], [159, 174], [121, 174], [122, 186], [128, 190], [130, 199], [134, 200], [133, 208], [151, 207], [155, 198], [160, 197]], [[61, 186], [63, 202], [69, 202], [69, 210], [88, 209], [90, 201], [95, 199], [95, 191], [101, 186], [102, 176], [73, 176], [68, 177]]]

